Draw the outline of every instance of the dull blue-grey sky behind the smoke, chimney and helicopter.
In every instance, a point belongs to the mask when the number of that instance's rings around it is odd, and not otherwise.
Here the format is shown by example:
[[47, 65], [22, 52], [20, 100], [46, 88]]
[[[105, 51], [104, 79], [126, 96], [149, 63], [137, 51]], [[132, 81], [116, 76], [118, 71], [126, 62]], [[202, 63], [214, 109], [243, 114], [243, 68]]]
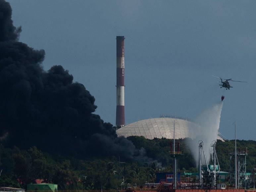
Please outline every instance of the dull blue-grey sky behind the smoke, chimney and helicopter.
[[116, 36], [125, 39], [126, 123], [165, 114], [195, 118], [231, 82], [220, 132], [256, 140], [256, 1], [9, 0], [20, 41], [62, 65], [115, 124]]

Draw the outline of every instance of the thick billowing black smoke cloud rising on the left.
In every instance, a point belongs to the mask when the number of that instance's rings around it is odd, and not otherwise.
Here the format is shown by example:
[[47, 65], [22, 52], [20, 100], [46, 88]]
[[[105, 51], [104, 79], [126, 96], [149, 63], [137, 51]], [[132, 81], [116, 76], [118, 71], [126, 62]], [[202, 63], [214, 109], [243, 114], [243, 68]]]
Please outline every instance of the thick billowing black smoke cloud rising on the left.
[[44, 50], [19, 42], [10, 4], [0, 0], [0, 131], [5, 144], [78, 156], [132, 158], [131, 141], [92, 114], [95, 98], [62, 66], [42, 69]]

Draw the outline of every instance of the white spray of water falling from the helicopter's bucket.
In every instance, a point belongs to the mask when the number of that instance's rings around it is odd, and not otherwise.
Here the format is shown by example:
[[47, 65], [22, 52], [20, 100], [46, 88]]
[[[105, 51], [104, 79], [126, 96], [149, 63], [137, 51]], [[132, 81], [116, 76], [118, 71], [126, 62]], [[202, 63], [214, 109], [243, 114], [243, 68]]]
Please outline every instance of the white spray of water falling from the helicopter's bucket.
[[207, 161], [210, 161], [211, 143], [217, 141], [217, 134], [220, 126], [221, 111], [223, 102], [215, 104], [200, 113], [194, 120], [194, 124], [189, 127], [189, 135], [193, 138], [189, 140], [188, 146], [193, 154], [196, 165], [198, 165], [198, 141], [204, 142], [204, 151]]

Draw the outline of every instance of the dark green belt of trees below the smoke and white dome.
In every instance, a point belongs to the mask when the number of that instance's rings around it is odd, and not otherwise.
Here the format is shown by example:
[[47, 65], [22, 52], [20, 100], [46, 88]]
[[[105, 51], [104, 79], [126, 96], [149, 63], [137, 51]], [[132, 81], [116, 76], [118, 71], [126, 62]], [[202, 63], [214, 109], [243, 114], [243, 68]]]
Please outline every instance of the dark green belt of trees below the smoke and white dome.
[[[117, 189], [130, 183], [137, 186], [145, 182], [154, 182], [155, 173], [172, 171], [173, 159], [170, 157], [169, 139], [148, 140], [144, 137], [132, 136], [131, 140], [141, 155], [136, 159], [122, 157], [76, 159], [70, 156], [48, 154], [36, 147], [21, 150], [0, 146], [0, 185], [26, 188], [26, 184], [35, 179], [44, 179], [47, 183], [58, 184], [60, 190], [67, 189]], [[180, 171], [196, 171], [195, 161], [186, 145], [187, 139], [180, 139], [180, 150], [183, 151], [178, 160]], [[247, 170], [256, 166], [256, 141], [237, 141], [237, 150], [248, 149]], [[144, 149], [143, 149], [144, 148]], [[234, 150], [234, 141], [217, 142], [217, 154], [222, 171], [229, 171], [230, 153]], [[146, 155], [145, 155], [146, 154]], [[120, 163], [121, 162], [121, 163]], [[122, 163], [126, 162], [126, 163]], [[18, 179], [23, 183], [19, 184]]]

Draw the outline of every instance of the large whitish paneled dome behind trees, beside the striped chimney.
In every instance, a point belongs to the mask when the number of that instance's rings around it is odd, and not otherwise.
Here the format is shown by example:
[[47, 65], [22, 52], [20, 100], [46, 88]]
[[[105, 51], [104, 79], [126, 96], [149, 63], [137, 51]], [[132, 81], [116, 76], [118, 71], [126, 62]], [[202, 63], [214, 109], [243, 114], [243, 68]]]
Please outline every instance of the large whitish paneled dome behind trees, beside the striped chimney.
[[[173, 139], [175, 120], [175, 139], [189, 137], [189, 128], [193, 122], [176, 118], [151, 118], [130, 123], [117, 130], [119, 136], [143, 136], [147, 139]], [[218, 139], [223, 140], [218, 135]]]

